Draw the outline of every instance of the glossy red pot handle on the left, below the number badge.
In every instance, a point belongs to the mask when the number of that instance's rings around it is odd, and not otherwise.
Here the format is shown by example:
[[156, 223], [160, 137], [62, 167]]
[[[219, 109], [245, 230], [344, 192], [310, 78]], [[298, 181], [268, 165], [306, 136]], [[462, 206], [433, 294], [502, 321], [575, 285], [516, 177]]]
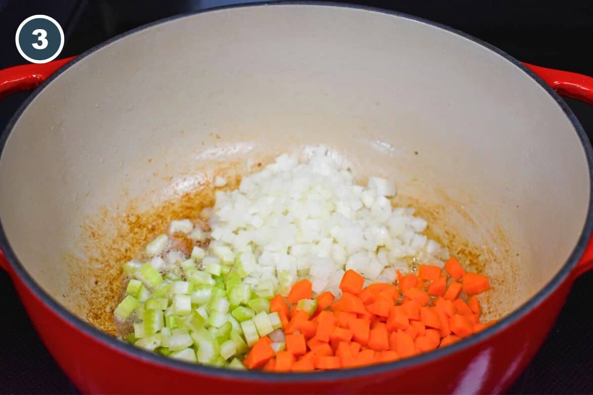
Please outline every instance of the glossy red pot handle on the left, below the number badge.
[[0, 70], [0, 99], [20, 91], [35, 89], [60, 67], [75, 56], [53, 60], [43, 64], [30, 63]]

